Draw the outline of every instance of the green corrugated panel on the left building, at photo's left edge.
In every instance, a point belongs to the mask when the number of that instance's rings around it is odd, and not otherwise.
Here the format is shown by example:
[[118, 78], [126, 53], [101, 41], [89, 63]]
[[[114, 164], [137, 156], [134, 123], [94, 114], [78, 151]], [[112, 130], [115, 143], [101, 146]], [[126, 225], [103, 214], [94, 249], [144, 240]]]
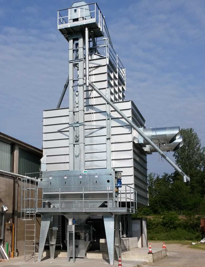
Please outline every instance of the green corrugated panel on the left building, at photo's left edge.
[[12, 172], [12, 144], [0, 140], [0, 169]]

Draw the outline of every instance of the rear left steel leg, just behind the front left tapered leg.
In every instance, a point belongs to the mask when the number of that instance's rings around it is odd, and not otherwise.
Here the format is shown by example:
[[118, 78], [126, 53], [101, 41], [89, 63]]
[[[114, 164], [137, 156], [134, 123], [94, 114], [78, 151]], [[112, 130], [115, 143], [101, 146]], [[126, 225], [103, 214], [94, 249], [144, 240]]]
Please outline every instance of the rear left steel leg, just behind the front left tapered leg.
[[56, 237], [58, 230], [58, 215], [53, 215], [53, 220], [50, 223], [49, 228], [49, 245], [50, 245], [50, 258], [54, 259], [55, 249], [56, 249]]

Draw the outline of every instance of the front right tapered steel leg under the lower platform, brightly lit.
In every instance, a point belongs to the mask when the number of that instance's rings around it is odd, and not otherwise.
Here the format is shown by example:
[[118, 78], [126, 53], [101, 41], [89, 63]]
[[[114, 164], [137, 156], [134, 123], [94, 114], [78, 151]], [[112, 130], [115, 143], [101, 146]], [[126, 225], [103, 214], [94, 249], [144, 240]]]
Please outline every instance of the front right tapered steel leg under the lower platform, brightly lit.
[[114, 265], [115, 215], [103, 215], [110, 265]]

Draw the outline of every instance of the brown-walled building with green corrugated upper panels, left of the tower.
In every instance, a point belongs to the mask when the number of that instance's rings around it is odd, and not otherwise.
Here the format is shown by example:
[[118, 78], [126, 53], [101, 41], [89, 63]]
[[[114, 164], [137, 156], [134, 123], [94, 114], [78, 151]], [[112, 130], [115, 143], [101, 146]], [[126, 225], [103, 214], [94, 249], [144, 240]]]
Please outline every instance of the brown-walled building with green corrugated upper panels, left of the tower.
[[[7, 206], [4, 223], [10, 222], [10, 225], [6, 224], [2, 227], [2, 219], [0, 221], [0, 244], [5, 247], [6, 242], [9, 243], [10, 256], [12, 251], [13, 256], [24, 255], [25, 242], [25, 222], [20, 220], [21, 179], [14, 174], [33, 173], [28, 176], [38, 177], [41, 157], [41, 149], [0, 132], [0, 208], [2, 205]], [[11, 174], [8, 175], [2, 171], [11, 172]], [[38, 217], [37, 220], [39, 220]], [[40, 222], [36, 224], [37, 232], [39, 232], [39, 225]], [[14, 238], [12, 238], [13, 226]]]

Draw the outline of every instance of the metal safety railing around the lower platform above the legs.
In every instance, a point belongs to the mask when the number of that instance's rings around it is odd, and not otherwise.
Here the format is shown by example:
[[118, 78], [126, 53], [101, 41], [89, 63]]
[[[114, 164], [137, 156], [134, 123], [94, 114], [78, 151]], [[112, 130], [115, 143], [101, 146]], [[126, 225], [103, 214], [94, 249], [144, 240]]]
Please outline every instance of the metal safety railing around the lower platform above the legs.
[[[105, 189], [105, 187], [107, 187]], [[75, 191], [73, 191], [75, 188]], [[110, 208], [127, 208], [131, 213], [136, 213], [137, 190], [128, 185], [122, 188], [114, 186], [75, 186], [75, 187], [38, 187], [36, 203], [41, 203], [38, 208], [90, 208], [88, 203], [104, 203], [107, 210]], [[39, 190], [41, 197], [39, 198]], [[43, 191], [43, 193], [42, 193]], [[92, 194], [99, 193], [99, 197]], [[67, 197], [73, 195], [73, 198]], [[76, 194], [76, 197], [74, 195]], [[101, 197], [100, 197], [101, 194]], [[103, 195], [102, 195], [103, 194]], [[52, 197], [53, 195], [53, 197]], [[48, 197], [46, 197], [48, 196]], [[92, 206], [92, 205], [91, 205]], [[99, 208], [98, 206], [91, 208]], [[106, 207], [104, 207], [105, 210]]]

